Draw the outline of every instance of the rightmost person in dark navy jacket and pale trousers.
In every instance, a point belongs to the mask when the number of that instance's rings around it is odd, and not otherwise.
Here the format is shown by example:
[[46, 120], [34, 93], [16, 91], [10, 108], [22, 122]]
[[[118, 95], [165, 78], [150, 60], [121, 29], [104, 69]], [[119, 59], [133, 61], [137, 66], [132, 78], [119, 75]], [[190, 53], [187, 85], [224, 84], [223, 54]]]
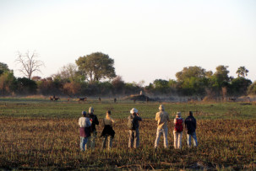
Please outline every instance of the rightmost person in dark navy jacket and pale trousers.
[[193, 146], [198, 147], [198, 140], [195, 133], [197, 128], [197, 121], [193, 117], [193, 112], [189, 111], [188, 117], [185, 120], [185, 127], [187, 128], [187, 137], [188, 137], [188, 147], [191, 147], [191, 136], [193, 137]]

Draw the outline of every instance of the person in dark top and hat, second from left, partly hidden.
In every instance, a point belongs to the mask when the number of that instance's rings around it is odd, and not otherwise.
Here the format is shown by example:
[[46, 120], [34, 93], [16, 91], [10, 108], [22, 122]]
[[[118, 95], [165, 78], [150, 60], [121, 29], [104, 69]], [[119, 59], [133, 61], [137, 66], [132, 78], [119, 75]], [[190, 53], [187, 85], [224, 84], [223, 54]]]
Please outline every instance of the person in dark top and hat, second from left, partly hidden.
[[91, 136], [88, 139], [88, 142], [85, 146], [86, 149], [89, 149], [89, 146], [90, 146], [90, 149], [95, 148], [95, 139], [97, 136], [96, 125], [97, 126], [99, 125], [99, 120], [98, 120], [97, 116], [94, 115], [94, 111], [95, 110], [93, 109], [93, 107], [89, 108], [89, 116], [90, 116], [90, 123], [91, 123]]

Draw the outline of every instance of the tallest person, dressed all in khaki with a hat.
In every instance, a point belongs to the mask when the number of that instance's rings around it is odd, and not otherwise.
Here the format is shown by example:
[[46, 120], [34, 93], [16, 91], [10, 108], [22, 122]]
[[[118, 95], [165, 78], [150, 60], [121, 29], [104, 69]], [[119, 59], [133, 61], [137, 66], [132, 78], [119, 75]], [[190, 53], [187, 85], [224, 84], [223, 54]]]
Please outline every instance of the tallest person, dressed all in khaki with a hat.
[[167, 139], [168, 121], [170, 121], [170, 119], [169, 119], [169, 115], [165, 111], [164, 105], [161, 104], [159, 106], [159, 110], [160, 111], [155, 114], [155, 120], [157, 121], [155, 148], [158, 147], [161, 134], [163, 134], [164, 136], [164, 147], [167, 148], [168, 147], [168, 139]]

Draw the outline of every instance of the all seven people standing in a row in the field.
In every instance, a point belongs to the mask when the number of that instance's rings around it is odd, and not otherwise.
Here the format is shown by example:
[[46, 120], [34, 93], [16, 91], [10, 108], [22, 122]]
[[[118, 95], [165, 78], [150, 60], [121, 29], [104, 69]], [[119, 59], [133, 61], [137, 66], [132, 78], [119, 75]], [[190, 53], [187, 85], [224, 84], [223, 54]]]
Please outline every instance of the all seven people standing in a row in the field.
[[[130, 110], [128, 116], [128, 131], [129, 131], [129, 148], [139, 147], [139, 121], [142, 121], [139, 116], [137, 109], [133, 108]], [[80, 136], [80, 150], [85, 151], [86, 149], [95, 148], [95, 138], [96, 129], [95, 126], [99, 125], [99, 120], [96, 115], [94, 115], [94, 109], [90, 107], [89, 113], [85, 111], [82, 112], [82, 117], [79, 118], [79, 136]], [[164, 137], [164, 147], [168, 147], [168, 122], [170, 121], [169, 114], [165, 111], [164, 105], [159, 106], [159, 112], [155, 114], [155, 120], [157, 121], [157, 130], [155, 138], [155, 149], [159, 146], [159, 141], [161, 135]], [[191, 139], [193, 138], [193, 146], [198, 146], [197, 136], [196, 136], [196, 119], [193, 117], [193, 112], [189, 111], [188, 117], [183, 120], [181, 112], [177, 112], [176, 118], [174, 119], [174, 148], [182, 148], [182, 132], [183, 127], [187, 129], [188, 137], [188, 147], [192, 147]], [[112, 139], [115, 136], [115, 131], [112, 126], [115, 121], [111, 117], [111, 111], [106, 111], [106, 117], [102, 120], [103, 131], [101, 132], [101, 137], [103, 137], [102, 148], [106, 148], [106, 142], [108, 139], [108, 149], [112, 148]]]

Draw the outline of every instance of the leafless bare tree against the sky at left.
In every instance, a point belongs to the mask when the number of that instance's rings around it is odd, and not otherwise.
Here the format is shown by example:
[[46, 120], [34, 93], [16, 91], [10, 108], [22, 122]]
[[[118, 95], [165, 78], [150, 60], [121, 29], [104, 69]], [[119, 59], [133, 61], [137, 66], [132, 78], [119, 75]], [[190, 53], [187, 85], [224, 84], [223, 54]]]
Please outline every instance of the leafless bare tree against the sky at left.
[[41, 72], [40, 67], [44, 66], [44, 62], [37, 60], [38, 54], [35, 51], [30, 55], [27, 51], [25, 55], [18, 51], [16, 62], [20, 65], [19, 72], [23, 73], [25, 77], [31, 79], [34, 72]]

